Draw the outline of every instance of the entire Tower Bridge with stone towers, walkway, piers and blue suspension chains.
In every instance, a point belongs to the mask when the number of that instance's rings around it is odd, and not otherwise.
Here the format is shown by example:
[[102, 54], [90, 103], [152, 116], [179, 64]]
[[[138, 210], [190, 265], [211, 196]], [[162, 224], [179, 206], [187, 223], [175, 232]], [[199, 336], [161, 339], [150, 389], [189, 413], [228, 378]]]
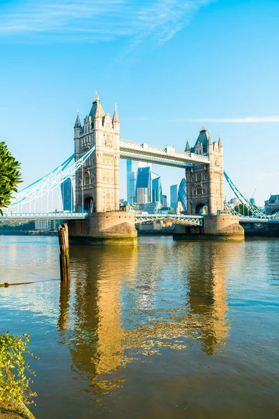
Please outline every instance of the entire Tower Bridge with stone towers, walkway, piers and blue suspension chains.
[[[179, 224], [176, 234], [180, 237], [202, 232], [211, 237], [243, 240], [243, 228], [239, 225], [238, 214], [231, 213], [230, 210], [224, 211], [223, 143], [220, 135], [218, 141], [213, 142], [211, 134], [202, 126], [195, 145], [190, 147], [187, 140], [184, 151], [176, 150], [172, 145], [164, 148], [145, 142], [123, 140], [120, 138], [120, 120], [116, 105], [114, 115], [110, 117], [103, 110], [96, 94], [83, 124], [77, 113], [74, 143], [73, 156], [17, 193], [8, 212], [0, 217], [1, 221], [59, 217], [68, 220], [70, 238], [74, 240], [130, 244], [137, 238], [135, 223], [167, 218]], [[120, 159], [146, 161], [185, 170], [187, 214], [146, 215], [119, 212]], [[225, 177], [236, 196], [239, 194], [244, 200], [226, 174]], [[75, 205], [71, 211], [53, 212], [52, 208], [50, 212], [43, 212], [43, 197], [47, 199], [48, 208], [50, 193], [68, 178], [75, 185]], [[41, 210], [34, 210], [32, 213], [31, 203], [38, 200]], [[252, 210], [252, 215], [264, 219], [256, 210]]]

